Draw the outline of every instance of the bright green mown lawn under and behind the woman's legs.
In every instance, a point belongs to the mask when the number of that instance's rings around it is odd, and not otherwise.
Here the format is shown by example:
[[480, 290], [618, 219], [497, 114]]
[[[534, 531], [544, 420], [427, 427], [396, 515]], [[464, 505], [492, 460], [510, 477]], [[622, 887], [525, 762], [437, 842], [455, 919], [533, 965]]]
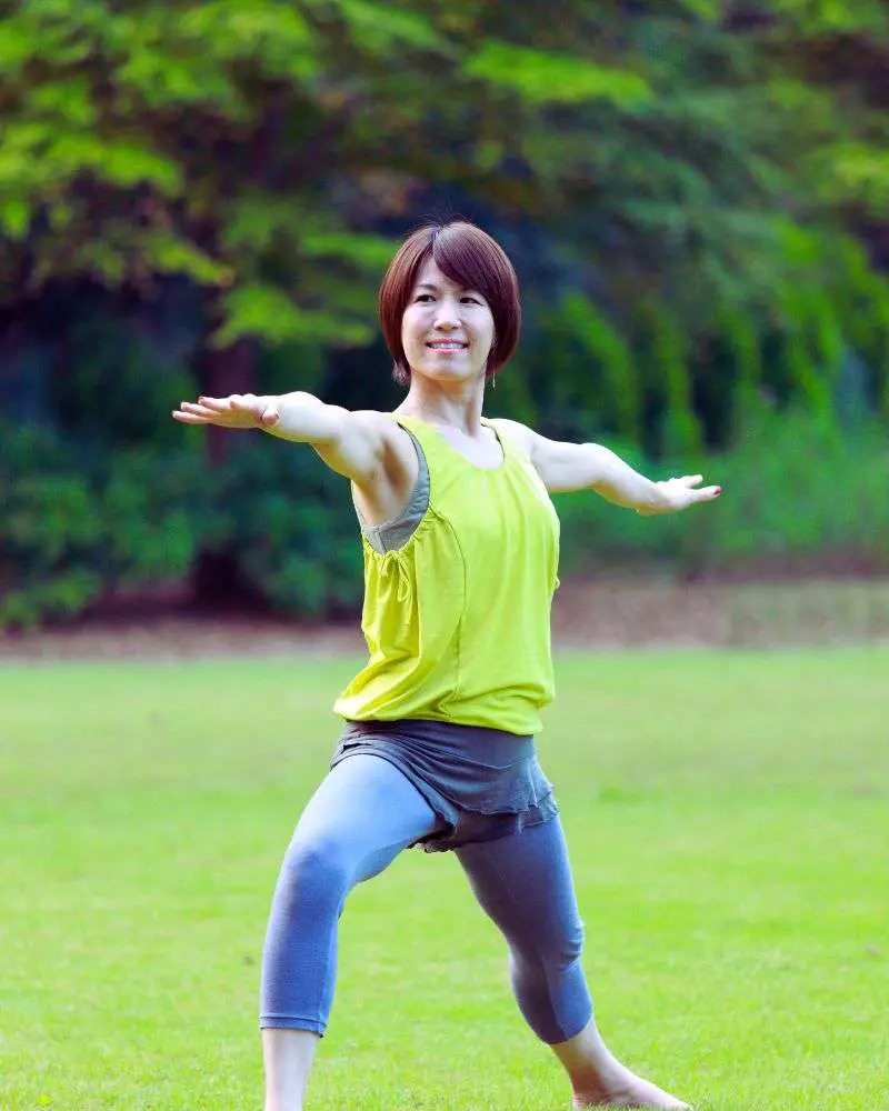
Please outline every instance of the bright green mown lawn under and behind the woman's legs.
[[[258, 958], [354, 660], [0, 672], [0, 1108], [261, 1107]], [[540, 737], [612, 1049], [889, 1107], [889, 651], [565, 654]], [[308, 1108], [568, 1105], [451, 855], [359, 888]]]

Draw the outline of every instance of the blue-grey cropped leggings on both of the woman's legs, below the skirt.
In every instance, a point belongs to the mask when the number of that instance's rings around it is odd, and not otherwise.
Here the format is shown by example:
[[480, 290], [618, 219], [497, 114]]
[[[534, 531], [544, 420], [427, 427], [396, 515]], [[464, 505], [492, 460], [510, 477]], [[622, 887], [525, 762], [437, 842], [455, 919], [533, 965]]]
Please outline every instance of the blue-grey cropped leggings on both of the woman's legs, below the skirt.
[[[440, 824], [384, 759], [357, 753], [323, 780], [297, 825], [272, 899], [262, 959], [260, 1025], [323, 1034], [337, 974], [337, 925], [349, 891]], [[455, 850], [510, 952], [528, 1024], [550, 1044], [587, 1025], [583, 925], [558, 817]]]

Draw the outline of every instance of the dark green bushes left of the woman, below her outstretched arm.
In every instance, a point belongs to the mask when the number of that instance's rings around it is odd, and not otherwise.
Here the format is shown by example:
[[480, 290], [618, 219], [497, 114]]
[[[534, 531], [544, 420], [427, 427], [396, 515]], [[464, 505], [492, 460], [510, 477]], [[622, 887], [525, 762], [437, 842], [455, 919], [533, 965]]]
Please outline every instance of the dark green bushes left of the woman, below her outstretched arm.
[[[181, 429], [178, 430], [181, 434]], [[181, 582], [199, 549], [242, 556], [276, 610], [354, 609], [361, 546], [348, 486], [306, 448], [242, 437], [207, 471], [201, 441], [88, 452], [4, 428], [0, 628], [67, 621], [112, 594]]]

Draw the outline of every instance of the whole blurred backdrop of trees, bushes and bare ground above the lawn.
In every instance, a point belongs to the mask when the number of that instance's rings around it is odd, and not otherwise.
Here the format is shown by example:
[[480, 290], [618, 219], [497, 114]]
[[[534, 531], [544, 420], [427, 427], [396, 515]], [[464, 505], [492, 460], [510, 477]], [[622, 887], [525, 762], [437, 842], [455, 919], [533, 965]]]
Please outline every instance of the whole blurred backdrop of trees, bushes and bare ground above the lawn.
[[0, 11], [6, 649], [354, 629], [342, 480], [169, 414], [198, 392], [394, 407], [377, 284], [455, 217], [523, 289], [487, 411], [726, 490], [657, 520], [559, 498], [557, 638], [889, 635], [883, 0]]

